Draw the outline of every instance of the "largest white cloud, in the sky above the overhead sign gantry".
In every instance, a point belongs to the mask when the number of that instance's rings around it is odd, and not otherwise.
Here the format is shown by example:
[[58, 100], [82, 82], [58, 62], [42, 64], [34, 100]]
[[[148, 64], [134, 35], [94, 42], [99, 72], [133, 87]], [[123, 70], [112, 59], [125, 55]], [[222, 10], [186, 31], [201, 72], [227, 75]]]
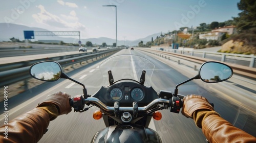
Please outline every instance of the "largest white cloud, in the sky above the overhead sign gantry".
[[48, 11], [46, 11], [45, 7], [42, 5], [37, 6], [40, 9], [40, 12], [37, 14], [33, 14], [32, 17], [35, 19], [36, 22], [42, 23], [45, 25], [49, 25], [51, 27], [57, 28], [71, 28], [75, 30], [85, 30], [86, 27], [78, 22], [78, 18], [76, 17], [75, 12], [70, 12], [70, 15], [61, 14], [61, 17], [65, 17], [68, 20], [72, 20], [72, 22], [67, 22], [60, 18], [57, 15], [54, 15]]

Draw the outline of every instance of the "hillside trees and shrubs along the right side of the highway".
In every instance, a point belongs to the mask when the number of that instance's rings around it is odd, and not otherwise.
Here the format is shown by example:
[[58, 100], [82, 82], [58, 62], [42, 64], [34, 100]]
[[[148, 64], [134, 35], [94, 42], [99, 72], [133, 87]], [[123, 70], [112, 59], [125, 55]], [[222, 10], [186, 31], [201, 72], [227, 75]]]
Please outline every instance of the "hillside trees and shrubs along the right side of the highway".
[[[238, 9], [241, 12], [238, 17], [226, 20], [224, 22], [212, 21], [210, 24], [200, 23], [197, 27], [198, 31], [188, 31], [188, 34], [183, 34], [187, 27], [182, 27], [180, 30], [160, 34], [156, 39], [143, 43], [140, 41], [138, 46], [171, 46], [172, 43], [178, 43], [179, 46], [192, 47], [194, 49], [203, 49], [205, 47], [220, 46], [222, 50], [219, 52], [234, 53], [234, 54], [256, 54], [256, 1], [241, 0], [238, 4]], [[223, 34], [218, 40], [199, 39], [200, 33], [208, 33], [213, 29], [224, 26], [236, 26], [237, 33], [228, 35]], [[173, 35], [172, 38], [168, 38]]]

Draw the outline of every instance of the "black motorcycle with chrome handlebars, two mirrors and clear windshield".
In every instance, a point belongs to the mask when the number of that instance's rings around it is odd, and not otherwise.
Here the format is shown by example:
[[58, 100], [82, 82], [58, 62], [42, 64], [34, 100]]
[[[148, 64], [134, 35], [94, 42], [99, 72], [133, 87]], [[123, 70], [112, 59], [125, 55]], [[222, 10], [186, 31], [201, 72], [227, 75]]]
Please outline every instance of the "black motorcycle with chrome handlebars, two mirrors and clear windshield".
[[[201, 65], [195, 77], [177, 84], [174, 93], [166, 90], [157, 93], [150, 84], [154, 68], [151, 61], [136, 55], [108, 58], [99, 66], [102, 86], [92, 96], [82, 83], [71, 79], [55, 61], [33, 64], [30, 75], [41, 81], [69, 79], [83, 86], [83, 94], [71, 98], [70, 106], [75, 112], [87, 111], [92, 106], [98, 107], [100, 110], [94, 112], [93, 118], [103, 118], [106, 126], [94, 135], [91, 142], [162, 142], [158, 133], [148, 126], [152, 118], [161, 120], [162, 115], [158, 110], [180, 112], [184, 98], [178, 93], [180, 85], [194, 79], [218, 83], [233, 74], [228, 65], [209, 61]], [[89, 107], [85, 108], [85, 105]]]

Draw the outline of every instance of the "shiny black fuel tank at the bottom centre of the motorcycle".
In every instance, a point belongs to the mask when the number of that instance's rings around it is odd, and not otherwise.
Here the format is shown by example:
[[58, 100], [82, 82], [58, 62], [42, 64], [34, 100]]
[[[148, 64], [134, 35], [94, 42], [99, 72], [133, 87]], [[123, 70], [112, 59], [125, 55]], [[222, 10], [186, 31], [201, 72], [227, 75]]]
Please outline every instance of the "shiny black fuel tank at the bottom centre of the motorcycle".
[[162, 142], [156, 131], [139, 125], [117, 125], [98, 131], [91, 142]]

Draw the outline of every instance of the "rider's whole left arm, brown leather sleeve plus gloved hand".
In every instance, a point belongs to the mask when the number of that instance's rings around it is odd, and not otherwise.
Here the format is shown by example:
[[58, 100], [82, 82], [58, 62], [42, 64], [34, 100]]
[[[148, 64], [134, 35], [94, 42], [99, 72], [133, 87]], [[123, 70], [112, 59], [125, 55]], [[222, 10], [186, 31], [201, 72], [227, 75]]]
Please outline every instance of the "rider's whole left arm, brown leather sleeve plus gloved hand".
[[49, 95], [37, 108], [2, 126], [0, 142], [38, 142], [45, 134], [50, 121], [71, 111], [69, 98], [68, 94], [62, 92]]

